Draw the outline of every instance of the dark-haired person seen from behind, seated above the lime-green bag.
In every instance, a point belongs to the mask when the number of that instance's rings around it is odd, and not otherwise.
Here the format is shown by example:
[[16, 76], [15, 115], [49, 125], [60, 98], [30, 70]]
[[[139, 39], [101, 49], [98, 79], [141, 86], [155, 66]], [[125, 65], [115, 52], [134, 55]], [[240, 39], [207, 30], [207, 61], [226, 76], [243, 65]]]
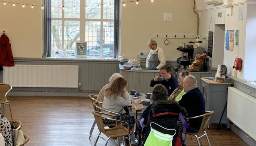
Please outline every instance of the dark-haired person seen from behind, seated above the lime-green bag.
[[[152, 90], [152, 95], [150, 99], [154, 103], [157, 100], [166, 100], [167, 97], [168, 97], [167, 89], [162, 84], [157, 84], [154, 86]], [[147, 106], [146, 110], [142, 113], [142, 116], [139, 119], [140, 123], [143, 122], [144, 124], [144, 125], [141, 124], [142, 128], [144, 128], [144, 126], [146, 126], [146, 124], [148, 123], [148, 115], [149, 115], [151, 106], [152, 104]]]

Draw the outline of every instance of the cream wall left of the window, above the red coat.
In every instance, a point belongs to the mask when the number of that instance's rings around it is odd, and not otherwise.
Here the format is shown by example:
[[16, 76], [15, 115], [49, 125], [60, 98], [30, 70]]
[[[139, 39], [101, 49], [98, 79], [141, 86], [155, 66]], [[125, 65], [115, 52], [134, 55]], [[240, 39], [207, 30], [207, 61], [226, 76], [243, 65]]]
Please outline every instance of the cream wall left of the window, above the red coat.
[[[19, 0], [18, 3], [41, 5], [41, 0]], [[7, 36], [12, 45], [14, 57], [42, 57], [42, 9], [40, 6], [26, 6], [11, 3], [0, 4], [0, 29], [8, 29]], [[1, 32], [2, 33], [2, 32]], [[1, 34], [0, 34], [1, 35]]]

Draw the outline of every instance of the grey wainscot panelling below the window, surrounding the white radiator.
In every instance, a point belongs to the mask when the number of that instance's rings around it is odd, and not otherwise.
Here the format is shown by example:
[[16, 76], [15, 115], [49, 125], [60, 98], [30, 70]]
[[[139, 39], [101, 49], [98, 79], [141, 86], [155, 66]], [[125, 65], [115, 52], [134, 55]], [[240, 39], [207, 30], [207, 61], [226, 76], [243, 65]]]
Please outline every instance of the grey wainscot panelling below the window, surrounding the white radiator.
[[[15, 64], [31, 65], [78, 65], [79, 88], [18, 88], [14, 87], [9, 95], [14, 96], [88, 96], [98, 94], [108, 83], [113, 73], [118, 73], [117, 60], [92, 59], [53, 59], [53, 58], [15, 58]], [[63, 78], [65, 80], [65, 78]], [[0, 71], [0, 82], [3, 82], [3, 71]]]

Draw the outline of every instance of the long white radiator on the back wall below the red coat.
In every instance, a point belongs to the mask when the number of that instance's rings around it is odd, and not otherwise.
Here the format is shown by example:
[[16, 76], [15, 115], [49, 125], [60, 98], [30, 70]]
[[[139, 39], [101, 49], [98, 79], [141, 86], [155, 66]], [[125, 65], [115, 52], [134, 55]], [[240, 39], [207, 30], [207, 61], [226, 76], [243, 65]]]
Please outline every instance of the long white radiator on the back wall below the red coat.
[[78, 88], [75, 65], [15, 65], [5, 67], [3, 82], [12, 87]]

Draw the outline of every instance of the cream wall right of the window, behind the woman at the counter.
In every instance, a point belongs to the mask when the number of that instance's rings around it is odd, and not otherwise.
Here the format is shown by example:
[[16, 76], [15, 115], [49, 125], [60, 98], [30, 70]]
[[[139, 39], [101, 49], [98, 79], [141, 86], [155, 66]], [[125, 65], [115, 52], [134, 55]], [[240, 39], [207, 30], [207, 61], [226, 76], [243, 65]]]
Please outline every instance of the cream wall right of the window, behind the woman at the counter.
[[[193, 0], [150, 0], [139, 1], [139, 4], [127, 3], [122, 7], [121, 15], [121, 55], [136, 58], [140, 51], [150, 51], [147, 42], [153, 33], [196, 34], [196, 14], [193, 12]], [[164, 12], [173, 13], [173, 22], [163, 22]], [[153, 38], [155, 39], [155, 38]], [[176, 60], [181, 56], [177, 46], [181, 42], [195, 39], [168, 39], [165, 45], [161, 38], [155, 39], [162, 47], [166, 60]]]

